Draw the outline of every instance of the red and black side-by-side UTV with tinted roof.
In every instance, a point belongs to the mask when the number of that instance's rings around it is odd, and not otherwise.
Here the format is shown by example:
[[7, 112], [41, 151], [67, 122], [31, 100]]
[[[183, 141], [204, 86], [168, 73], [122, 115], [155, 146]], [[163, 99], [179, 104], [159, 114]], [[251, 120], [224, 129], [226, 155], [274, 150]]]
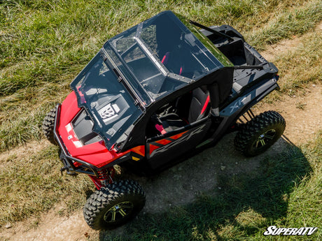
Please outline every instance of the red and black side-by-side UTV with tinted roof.
[[250, 108], [279, 88], [277, 71], [232, 27], [171, 11], [109, 39], [43, 121], [62, 171], [84, 173], [97, 187], [84, 207], [87, 224], [114, 228], [144, 207], [140, 185], [113, 180], [113, 166], [150, 175], [231, 131], [246, 156], [273, 145], [283, 117]]

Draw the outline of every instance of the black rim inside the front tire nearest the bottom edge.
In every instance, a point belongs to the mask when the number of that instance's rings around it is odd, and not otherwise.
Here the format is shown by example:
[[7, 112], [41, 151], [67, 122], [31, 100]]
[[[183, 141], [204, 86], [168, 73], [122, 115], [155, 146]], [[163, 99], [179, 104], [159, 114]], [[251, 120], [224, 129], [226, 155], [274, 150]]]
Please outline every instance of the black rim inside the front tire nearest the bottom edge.
[[108, 223], [120, 221], [128, 217], [129, 214], [132, 212], [132, 210], [133, 210], [133, 203], [128, 201], [123, 203], [118, 203], [113, 207], [111, 207], [104, 214], [104, 220]]

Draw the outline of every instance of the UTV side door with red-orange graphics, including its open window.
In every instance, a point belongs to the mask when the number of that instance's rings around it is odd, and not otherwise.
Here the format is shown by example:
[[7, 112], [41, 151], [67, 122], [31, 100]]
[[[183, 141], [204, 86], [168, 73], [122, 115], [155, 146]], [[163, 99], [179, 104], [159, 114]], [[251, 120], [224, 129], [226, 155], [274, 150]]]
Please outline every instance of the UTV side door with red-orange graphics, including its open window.
[[[198, 87], [155, 112], [148, 127], [146, 156], [151, 168], [166, 165], [199, 145], [209, 131], [209, 92]], [[188, 103], [188, 104], [187, 104]], [[153, 129], [158, 129], [153, 132]]]

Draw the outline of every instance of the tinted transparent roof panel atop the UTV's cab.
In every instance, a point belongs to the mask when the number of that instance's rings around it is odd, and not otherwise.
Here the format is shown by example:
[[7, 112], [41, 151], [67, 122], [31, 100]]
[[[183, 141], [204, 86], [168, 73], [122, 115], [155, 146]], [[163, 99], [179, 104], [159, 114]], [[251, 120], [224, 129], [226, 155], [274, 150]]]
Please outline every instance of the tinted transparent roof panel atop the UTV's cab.
[[165, 11], [111, 38], [104, 48], [114, 50], [116, 65], [148, 105], [227, 66], [190, 29], [174, 13]]

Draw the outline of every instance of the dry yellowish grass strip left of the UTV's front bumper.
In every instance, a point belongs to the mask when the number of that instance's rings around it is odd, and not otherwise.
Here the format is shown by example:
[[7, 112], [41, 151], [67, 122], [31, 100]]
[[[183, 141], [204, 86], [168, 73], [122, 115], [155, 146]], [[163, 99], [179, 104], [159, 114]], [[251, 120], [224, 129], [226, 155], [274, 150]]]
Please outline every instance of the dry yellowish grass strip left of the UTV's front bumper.
[[19, 153], [15, 149], [4, 157], [0, 170], [0, 224], [21, 221], [31, 215], [49, 210], [55, 203], [66, 204], [66, 209], [83, 206], [85, 191], [92, 189], [90, 180], [81, 175], [77, 179], [60, 175], [62, 166], [57, 158], [57, 147]]

